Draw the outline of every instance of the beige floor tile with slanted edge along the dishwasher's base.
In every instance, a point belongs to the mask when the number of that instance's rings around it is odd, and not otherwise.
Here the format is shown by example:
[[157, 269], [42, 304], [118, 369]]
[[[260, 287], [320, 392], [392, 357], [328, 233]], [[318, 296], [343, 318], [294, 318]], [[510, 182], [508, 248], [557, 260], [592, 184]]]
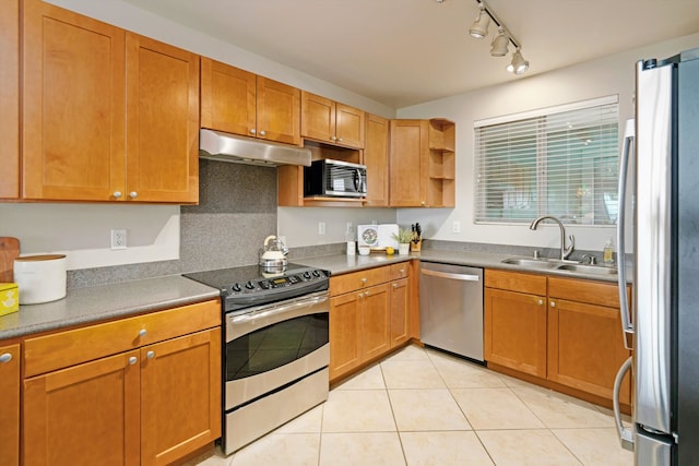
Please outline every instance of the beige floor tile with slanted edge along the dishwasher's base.
[[506, 387], [502, 379], [493, 371], [473, 362], [436, 351], [427, 353], [437, 372], [450, 389], [497, 389]]

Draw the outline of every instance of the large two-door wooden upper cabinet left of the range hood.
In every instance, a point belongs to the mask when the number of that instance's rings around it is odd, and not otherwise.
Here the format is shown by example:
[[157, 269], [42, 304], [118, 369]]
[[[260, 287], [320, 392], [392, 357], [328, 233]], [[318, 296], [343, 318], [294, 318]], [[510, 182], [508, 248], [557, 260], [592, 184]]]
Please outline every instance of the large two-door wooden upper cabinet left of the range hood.
[[23, 22], [22, 196], [196, 203], [199, 56], [39, 0]]

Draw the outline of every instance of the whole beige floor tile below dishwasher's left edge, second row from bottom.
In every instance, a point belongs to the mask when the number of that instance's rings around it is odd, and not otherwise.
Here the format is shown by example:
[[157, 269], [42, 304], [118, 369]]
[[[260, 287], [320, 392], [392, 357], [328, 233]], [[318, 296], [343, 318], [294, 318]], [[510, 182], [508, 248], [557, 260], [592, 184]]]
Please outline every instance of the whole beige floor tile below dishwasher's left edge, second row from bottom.
[[448, 390], [390, 390], [400, 431], [471, 430]]

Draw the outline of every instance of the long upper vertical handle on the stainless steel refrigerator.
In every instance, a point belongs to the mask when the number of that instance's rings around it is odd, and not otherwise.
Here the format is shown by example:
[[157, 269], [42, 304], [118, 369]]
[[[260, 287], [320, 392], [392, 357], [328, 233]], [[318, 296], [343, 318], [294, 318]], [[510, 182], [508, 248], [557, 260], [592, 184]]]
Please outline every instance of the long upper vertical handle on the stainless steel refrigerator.
[[621, 332], [624, 335], [624, 346], [632, 349], [633, 324], [631, 323], [631, 309], [629, 307], [628, 295], [626, 292], [626, 189], [629, 182], [629, 160], [633, 151], [635, 131], [633, 120], [627, 120], [624, 132], [624, 145], [621, 150], [621, 160], [619, 163], [619, 188], [618, 188], [618, 216], [616, 228], [617, 244], [617, 270], [619, 285], [619, 312], [621, 314]]

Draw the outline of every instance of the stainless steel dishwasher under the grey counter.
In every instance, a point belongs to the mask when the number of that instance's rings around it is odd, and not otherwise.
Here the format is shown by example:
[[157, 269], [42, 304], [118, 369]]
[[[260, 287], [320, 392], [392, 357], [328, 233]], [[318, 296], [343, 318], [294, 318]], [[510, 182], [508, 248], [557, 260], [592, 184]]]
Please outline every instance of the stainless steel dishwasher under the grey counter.
[[420, 261], [419, 338], [483, 362], [483, 268]]

